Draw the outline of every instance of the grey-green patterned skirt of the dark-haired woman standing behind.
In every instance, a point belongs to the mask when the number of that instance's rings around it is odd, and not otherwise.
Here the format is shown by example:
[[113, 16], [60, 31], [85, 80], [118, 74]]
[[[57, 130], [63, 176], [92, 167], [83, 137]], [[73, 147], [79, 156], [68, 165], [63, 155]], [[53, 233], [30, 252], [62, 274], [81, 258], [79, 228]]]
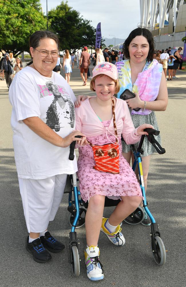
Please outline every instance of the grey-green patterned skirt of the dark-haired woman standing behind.
[[[159, 130], [156, 115], [154, 111], [152, 111], [150, 115], [131, 115], [131, 118], [132, 118], [135, 129], [139, 127], [140, 125], [143, 125], [146, 123], [146, 124], [152, 125], [154, 129]], [[154, 137], [157, 140], [157, 142], [161, 144], [160, 134]], [[137, 144], [134, 144], [136, 148], [138, 148], [138, 145], [139, 145], [139, 142]], [[153, 154], [154, 152], [157, 152], [156, 149], [153, 147], [153, 145], [148, 141], [147, 137], [145, 137], [143, 141], [142, 148], [144, 150], [144, 154], [141, 155], [142, 157], [149, 156]], [[132, 146], [130, 144], [127, 145], [125, 141], [122, 141], [122, 152], [129, 152], [130, 150], [132, 151]]]

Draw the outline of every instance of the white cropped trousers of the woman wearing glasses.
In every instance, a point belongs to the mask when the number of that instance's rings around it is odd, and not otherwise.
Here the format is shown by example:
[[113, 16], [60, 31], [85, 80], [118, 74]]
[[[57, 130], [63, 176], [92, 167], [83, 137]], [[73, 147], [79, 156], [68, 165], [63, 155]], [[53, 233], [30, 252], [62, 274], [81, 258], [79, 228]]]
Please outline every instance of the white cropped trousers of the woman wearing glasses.
[[28, 232], [43, 232], [54, 220], [63, 197], [66, 174], [46, 179], [19, 179]]

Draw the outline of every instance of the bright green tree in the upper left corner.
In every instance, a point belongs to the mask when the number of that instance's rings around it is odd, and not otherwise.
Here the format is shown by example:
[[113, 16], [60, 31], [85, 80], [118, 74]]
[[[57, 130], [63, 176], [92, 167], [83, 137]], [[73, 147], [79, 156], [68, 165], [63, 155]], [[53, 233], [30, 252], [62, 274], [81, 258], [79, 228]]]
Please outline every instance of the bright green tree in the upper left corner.
[[39, 0], [0, 0], [0, 48], [29, 51], [29, 36], [46, 30], [46, 22]]

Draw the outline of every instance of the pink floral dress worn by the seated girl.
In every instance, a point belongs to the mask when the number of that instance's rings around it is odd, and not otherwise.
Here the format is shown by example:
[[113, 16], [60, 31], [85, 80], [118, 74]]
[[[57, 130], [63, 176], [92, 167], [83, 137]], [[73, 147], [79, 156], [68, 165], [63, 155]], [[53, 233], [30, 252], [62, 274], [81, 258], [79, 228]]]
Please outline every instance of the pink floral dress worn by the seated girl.
[[[103, 121], [104, 126], [110, 124], [110, 121]], [[87, 137], [92, 144], [109, 143], [106, 135], [96, 137]], [[114, 142], [115, 137], [109, 135], [110, 141]], [[142, 197], [141, 188], [136, 179], [136, 175], [132, 168], [122, 156], [121, 139], [119, 141], [119, 171], [118, 174], [102, 172], [95, 170], [92, 147], [86, 145], [79, 148], [78, 158], [78, 179], [80, 181], [81, 197], [84, 201], [89, 200], [93, 195], [105, 195], [112, 199], [121, 199], [120, 196], [137, 195]]]

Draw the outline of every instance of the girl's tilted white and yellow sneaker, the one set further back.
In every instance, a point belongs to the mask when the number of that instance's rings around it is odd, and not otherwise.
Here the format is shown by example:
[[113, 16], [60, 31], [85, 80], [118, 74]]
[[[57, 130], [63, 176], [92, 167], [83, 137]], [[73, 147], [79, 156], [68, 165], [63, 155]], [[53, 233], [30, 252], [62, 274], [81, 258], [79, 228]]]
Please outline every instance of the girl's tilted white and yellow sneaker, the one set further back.
[[121, 227], [118, 225], [116, 227], [116, 231], [113, 233], [110, 233], [108, 229], [105, 227], [105, 223], [107, 222], [108, 218], [104, 218], [102, 220], [102, 225], [101, 225], [101, 231], [103, 231], [108, 239], [116, 246], [123, 246], [125, 244], [125, 238], [123, 234], [121, 233]]

